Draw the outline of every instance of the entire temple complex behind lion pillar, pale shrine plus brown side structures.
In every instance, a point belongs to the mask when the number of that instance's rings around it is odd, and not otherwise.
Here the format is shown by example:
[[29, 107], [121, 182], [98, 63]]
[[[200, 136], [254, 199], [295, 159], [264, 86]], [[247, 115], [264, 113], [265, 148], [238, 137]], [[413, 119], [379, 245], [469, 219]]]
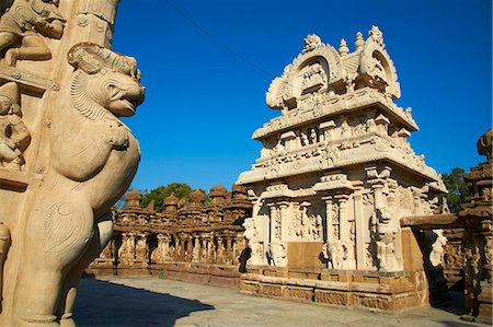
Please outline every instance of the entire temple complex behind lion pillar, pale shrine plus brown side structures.
[[465, 178], [473, 197], [458, 214], [408, 138], [411, 108], [381, 32], [355, 50], [316, 35], [268, 89], [279, 109], [253, 135], [260, 159], [231, 191], [195, 190], [142, 208], [126, 195], [115, 233], [87, 270], [158, 276], [324, 305], [400, 312], [446, 303], [465, 291], [463, 313], [491, 324], [492, 130], [478, 142], [486, 162]]

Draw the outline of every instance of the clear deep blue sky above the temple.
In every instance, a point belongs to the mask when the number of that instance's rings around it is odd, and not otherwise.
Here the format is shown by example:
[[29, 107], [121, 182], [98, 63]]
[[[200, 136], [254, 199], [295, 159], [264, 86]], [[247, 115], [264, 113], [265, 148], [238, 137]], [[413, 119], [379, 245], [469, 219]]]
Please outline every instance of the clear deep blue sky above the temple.
[[[260, 155], [253, 131], [279, 115], [265, 104], [274, 77], [301, 51], [307, 34], [354, 50], [356, 32], [383, 32], [413, 107], [410, 138], [438, 173], [483, 161], [479, 136], [492, 127], [491, 0], [122, 0], [113, 48], [137, 58], [146, 102], [125, 122], [141, 145], [138, 189], [187, 183], [228, 189]], [[265, 73], [267, 72], [267, 73]]]

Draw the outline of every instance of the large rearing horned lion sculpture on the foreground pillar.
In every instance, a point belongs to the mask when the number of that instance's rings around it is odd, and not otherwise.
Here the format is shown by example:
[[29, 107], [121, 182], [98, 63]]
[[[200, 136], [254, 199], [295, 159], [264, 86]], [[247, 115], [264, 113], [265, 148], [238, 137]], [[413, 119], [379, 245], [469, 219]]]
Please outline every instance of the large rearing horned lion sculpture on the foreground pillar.
[[49, 160], [19, 236], [22, 269], [13, 296], [22, 299], [14, 303], [20, 325], [74, 326], [78, 281], [110, 242], [112, 206], [128, 189], [140, 157], [137, 140], [118, 119], [133, 116], [144, 101], [135, 59], [83, 43], [70, 49], [68, 61], [74, 71], [56, 95]]

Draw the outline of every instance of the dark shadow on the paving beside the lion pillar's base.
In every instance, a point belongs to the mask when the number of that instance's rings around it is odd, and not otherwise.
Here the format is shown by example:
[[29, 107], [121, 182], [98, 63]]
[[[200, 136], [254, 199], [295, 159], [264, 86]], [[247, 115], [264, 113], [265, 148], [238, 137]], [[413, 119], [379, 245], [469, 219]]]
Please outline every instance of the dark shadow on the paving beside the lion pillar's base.
[[196, 300], [83, 278], [79, 284], [77, 326], [174, 326], [177, 318], [215, 307]]

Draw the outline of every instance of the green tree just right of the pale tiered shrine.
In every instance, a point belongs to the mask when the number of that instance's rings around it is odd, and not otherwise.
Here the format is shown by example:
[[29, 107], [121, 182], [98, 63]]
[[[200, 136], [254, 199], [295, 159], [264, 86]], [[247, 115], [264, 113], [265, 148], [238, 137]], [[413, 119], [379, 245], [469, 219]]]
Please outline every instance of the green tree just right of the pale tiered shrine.
[[454, 213], [459, 212], [460, 205], [468, 202], [468, 198], [471, 196], [470, 184], [463, 179], [463, 173], [462, 168], [455, 167], [450, 174], [442, 174], [448, 189], [448, 194], [445, 195], [448, 208]]

